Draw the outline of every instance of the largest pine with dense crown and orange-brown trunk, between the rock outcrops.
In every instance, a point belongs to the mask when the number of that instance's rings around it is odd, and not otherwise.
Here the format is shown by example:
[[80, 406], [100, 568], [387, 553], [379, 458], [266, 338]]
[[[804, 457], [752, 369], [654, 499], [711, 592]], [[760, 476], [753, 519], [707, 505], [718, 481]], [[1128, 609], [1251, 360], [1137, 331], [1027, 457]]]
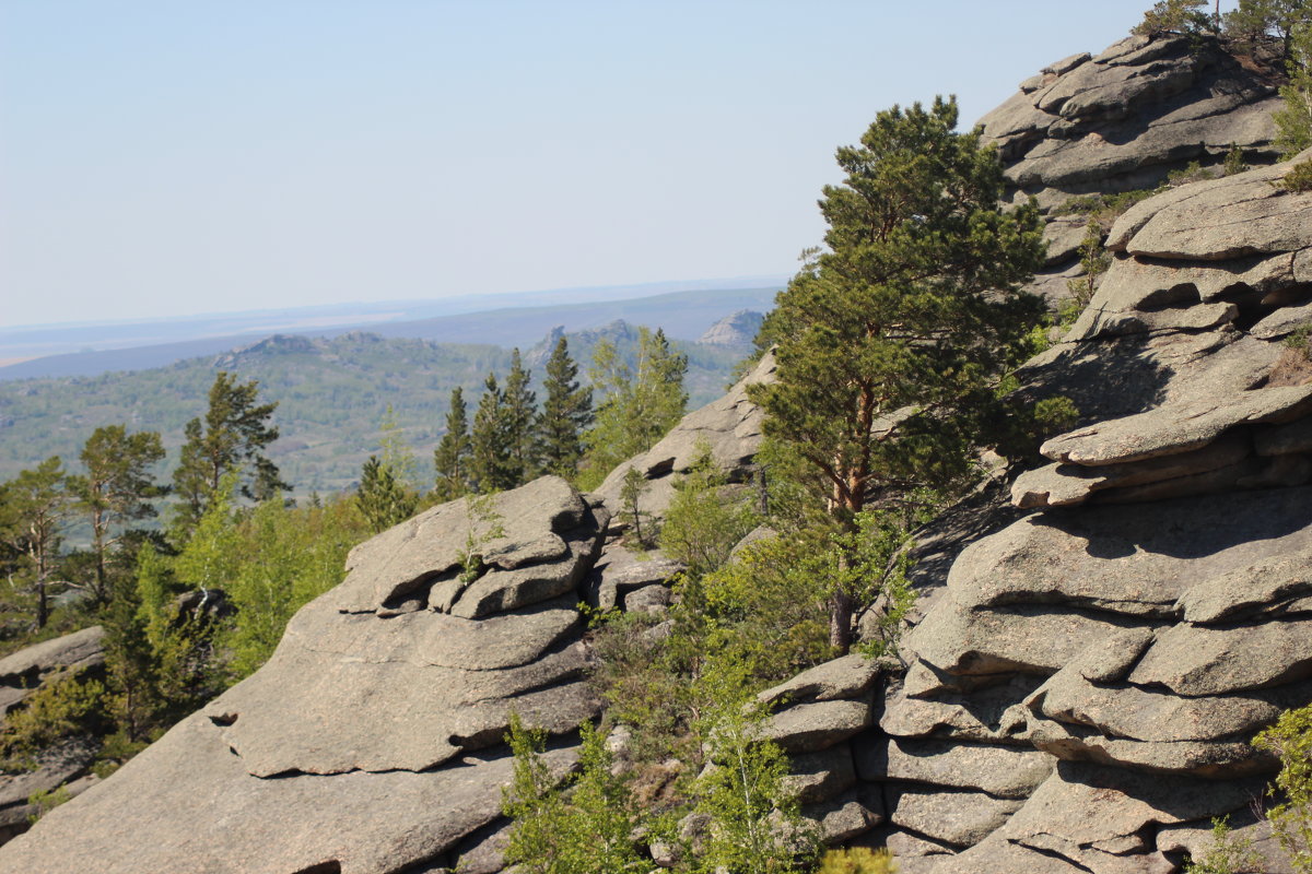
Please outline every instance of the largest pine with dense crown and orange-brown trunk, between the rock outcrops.
[[[867, 506], [970, 472], [997, 381], [1043, 317], [1019, 290], [1043, 261], [1038, 208], [1004, 210], [996, 152], [955, 127], [955, 100], [895, 106], [838, 149], [846, 178], [820, 202], [827, 250], [762, 329], [777, 381], [749, 396], [765, 432], [806, 460], [842, 536]], [[842, 588], [830, 612], [838, 650], [854, 607]]]

